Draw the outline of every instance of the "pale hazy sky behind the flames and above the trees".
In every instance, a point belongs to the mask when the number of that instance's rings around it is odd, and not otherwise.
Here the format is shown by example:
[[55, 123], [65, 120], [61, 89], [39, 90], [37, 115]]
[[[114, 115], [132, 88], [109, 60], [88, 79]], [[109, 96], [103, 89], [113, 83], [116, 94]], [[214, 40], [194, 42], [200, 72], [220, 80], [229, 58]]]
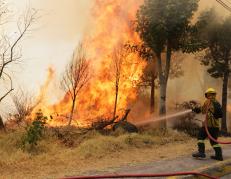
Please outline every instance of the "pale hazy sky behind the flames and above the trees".
[[[45, 81], [47, 68], [53, 66], [57, 75], [64, 69], [73, 49], [88, 32], [90, 8], [94, 0], [8, 0], [17, 17], [28, 5], [40, 9], [42, 16], [33, 33], [22, 43], [23, 64], [17, 66], [16, 83], [36, 90]], [[216, 5], [215, 0], [201, 0], [200, 9]]]

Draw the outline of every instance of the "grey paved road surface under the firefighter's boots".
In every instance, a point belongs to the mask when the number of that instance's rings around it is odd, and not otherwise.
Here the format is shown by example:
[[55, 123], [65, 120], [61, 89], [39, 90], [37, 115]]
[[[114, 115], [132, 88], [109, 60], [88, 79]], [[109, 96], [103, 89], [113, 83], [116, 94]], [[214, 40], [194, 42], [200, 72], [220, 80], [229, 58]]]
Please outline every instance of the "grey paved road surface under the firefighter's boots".
[[[191, 155], [186, 154], [185, 156], [176, 157], [173, 159], [162, 159], [159, 161], [148, 162], [146, 164], [121, 167], [116, 169], [113, 173], [99, 173], [100, 175], [106, 174], [160, 174], [160, 173], [175, 173], [175, 172], [189, 172], [198, 171], [206, 173], [213, 177], [226, 176], [225, 178], [230, 178], [230, 163], [231, 163], [231, 146], [223, 146], [223, 157], [224, 161], [216, 161], [210, 159], [210, 155], [214, 154], [213, 150], [206, 151], [207, 157], [204, 160], [196, 160], [191, 157]], [[224, 166], [226, 163], [226, 166]], [[92, 173], [95, 175], [95, 173]], [[161, 177], [164, 178], [164, 177]], [[196, 177], [194, 177], [196, 178]], [[140, 178], [139, 178], [140, 179]], [[144, 178], [142, 178], [144, 179]]]

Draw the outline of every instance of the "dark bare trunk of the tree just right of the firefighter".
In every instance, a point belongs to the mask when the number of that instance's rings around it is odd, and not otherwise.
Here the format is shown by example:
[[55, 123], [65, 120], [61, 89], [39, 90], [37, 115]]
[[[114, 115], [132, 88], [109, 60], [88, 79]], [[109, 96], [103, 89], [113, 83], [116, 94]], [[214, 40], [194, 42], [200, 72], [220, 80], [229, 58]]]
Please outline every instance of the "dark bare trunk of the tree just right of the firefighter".
[[227, 109], [228, 82], [229, 82], [229, 72], [227, 71], [224, 73], [223, 87], [222, 87], [222, 110], [223, 110], [223, 117], [221, 122], [222, 132], [227, 132], [226, 109]]

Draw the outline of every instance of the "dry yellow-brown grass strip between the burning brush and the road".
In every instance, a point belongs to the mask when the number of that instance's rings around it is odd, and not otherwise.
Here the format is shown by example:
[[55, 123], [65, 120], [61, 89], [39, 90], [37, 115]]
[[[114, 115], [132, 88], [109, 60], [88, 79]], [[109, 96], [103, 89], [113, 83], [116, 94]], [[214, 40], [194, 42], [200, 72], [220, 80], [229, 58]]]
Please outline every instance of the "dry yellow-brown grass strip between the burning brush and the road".
[[59, 178], [109, 171], [123, 165], [185, 155], [196, 147], [195, 139], [176, 131], [142, 134], [117, 131], [107, 136], [93, 131], [72, 137], [79, 140], [72, 147], [66, 147], [49, 134], [39, 143], [37, 154], [31, 155], [18, 147], [21, 135], [21, 131], [0, 134], [0, 178]]

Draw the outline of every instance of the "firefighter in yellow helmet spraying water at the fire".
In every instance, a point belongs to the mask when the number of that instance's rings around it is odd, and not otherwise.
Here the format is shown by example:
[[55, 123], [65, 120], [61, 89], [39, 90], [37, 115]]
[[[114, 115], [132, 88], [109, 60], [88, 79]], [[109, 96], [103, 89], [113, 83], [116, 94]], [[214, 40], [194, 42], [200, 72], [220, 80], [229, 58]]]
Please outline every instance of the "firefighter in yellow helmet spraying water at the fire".
[[[209, 88], [205, 92], [206, 101], [202, 107], [193, 108], [193, 112], [207, 114], [207, 126], [210, 135], [217, 140], [219, 130], [220, 130], [220, 121], [222, 118], [222, 109], [220, 103], [216, 100], [216, 91], [213, 88]], [[207, 133], [205, 131], [204, 122], [202, 122], [202, 127], [198, 134], [198, 152], [193, 153], [194, 158], [206, 158], [205, 155], [205, 139], [207, 138]], [[210, 139], [210, 144], [215, 151], [215, 155], [211, 156], [211, 159], [222, 161], [222, 149], [220, 144]]]

